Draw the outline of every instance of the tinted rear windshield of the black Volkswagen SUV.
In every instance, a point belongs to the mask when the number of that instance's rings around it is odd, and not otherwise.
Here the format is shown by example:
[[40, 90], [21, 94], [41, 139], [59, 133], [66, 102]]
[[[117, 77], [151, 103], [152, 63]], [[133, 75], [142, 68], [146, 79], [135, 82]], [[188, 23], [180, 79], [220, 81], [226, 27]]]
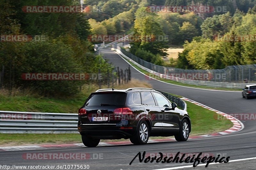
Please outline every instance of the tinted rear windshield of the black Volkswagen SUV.
[[86, 101], [85, 106], [123, 106], [126, 93], [123, 92], [100, 92], [92, 94]]

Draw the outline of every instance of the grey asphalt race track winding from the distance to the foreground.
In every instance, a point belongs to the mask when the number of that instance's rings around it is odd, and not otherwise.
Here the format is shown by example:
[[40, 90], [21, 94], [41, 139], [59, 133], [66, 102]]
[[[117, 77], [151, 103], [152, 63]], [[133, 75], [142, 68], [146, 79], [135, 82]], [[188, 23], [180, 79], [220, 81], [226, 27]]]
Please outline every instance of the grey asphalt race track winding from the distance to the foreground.
[[[121, 69], [128, 68], [128, 63], [124, 61], [114, 51], [102, 49], [100, 53], [110, 63], [119, 66]], [[206, 106], [212, 107], [227, 114], [233, 113], [256, 113], [256, 99], [246, 100], [242, 98], [240, 92], [210, 91], [188, 87], [170, 85], [157, 80], [148, 80], [143, 74], [131, 67], [132, 78], [148, 81], [153, 88], [164, 92], [184, 96], [195, 100]], [[2, 151], [0, 152], [1, 164], [5, 165], [89, 165], [90, 169], [161, 169], [173, 168], [179, 166], [188, 166], [192, 163], [144, 163], [136, 158], [132, 165], [131, 160], [138, 152], [146, 153], [208, 153], [213, 156], [221, 154], [230, 157], [230, 162], [211, 164], [207, 169], [255, 169], [256, 159], [246, 159], [256, 157], [256, 120], [241, 120], [244, 123], [244, 129], [222, 135], [218, 137], [204, 137], [200, 139], [191, 139], [186, 142], [164, 142], [149, 143], [146, 145], [120, 145], [120, 146], [101, 146], [96, 148], [65, 148], [48, 150], [30, 150], [30, 151]], [[193, 127], [192, 127], [193, 129]], [[24, 153], [80, 153], [90, 154], [88, 160], [28, 160], [23, 159]], [[95, 157], [93, 155], [96, 155]], [[97, 159], [101, 155], [103, 159]], [[94, 159], [95, 158], [95, 159]], [[245, 159], [232, 161], [236, 159]], [[202, 164], [202, 163], [200, 163]], [[188, 167], [181, 169], [204, 169], [205, 166]], [[74, 169], [74, 168], [73, 168]]]

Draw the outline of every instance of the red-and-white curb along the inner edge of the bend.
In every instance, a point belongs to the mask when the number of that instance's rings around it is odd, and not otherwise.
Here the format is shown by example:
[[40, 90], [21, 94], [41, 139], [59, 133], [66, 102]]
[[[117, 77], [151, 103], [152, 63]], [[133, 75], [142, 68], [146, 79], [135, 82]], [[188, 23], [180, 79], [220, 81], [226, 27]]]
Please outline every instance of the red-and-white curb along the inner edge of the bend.
[[[236, 119], [233, 116], [230, 116], [228, 114], [225, 114], [223, 112], [220, 112], [218, 110], [215, 110], [211, 107], [205, 106], [201, 103], [198, 103], [196, 101], [187, 99], [187, 98], [181, 98], [182, 100], [191, 102], [193, 104], [196, 104], [197, 106], [204, 107], [206, 109], [209, 109], [211, 111], [216, 112], [217, 114], [220, 114], [227, 119], [229, 119], [233, 123], [233, 127], [229, 128], [225, 131], [218, 132], [218, 133], [213, 133], [209, 135], [200, 135], [200, 136], [192, 136], [189, 137], [189, 139], [196, 139], [196, 138], [202, 138], [202, 137], [214, 137], [218, 135], [225, 135], [229, 133], [234, 133], [237, 131], [240, 131], [244, 129], [244, 124]], [[171, 139], [152, 139], [148, 140], [148, 143], [158, 143], [158, 142], [171, 142], [171, 141], [176, 141], [175, 138]], [[132, 144], [130, 141], [122, 141], [122, 142], [100, 142], [98, 146], [113, 146], [113, 145], [126, 145], [126, 144]], [[85, 147], [84, 144], [48, 144], [48, 145], [31, 145], [31, 146], [7, 146], [7, 147], [0, 147], [0, 151], [20, 151], [20, 150], [41, 150], [41, 149], [58, 149], [58, 148], [75, 148], [75, 147]]]

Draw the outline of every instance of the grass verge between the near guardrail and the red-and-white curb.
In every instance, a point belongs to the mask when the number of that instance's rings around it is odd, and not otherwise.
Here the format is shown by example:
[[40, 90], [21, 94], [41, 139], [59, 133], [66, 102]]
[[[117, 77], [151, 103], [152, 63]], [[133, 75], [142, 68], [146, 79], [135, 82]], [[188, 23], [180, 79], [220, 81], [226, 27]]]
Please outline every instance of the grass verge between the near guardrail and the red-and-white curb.
[[[214, 117], [216, 113], [197, 106], [190, 102], [187, 103], [187, 110], [191, 118], [192, 130], [190, 136], [205, 135], [232, 127], [232, 122], [229, 120], [216, 120]], [[215, 115], [215, 116], [214, 116]], [[171, 137], [150, 137], [150, 139], [164, 139]], [[25, 139], [25, 140], [24, 140]], [[120, 140], [101, 140], [101, 142], [113, 141], [129, 141], [125, 139]], [[29, 144], [68, 144], [68, 143], [82, 143], [79, 134], [1, 134], [0, 146], [11, 145], [29, 145]]]

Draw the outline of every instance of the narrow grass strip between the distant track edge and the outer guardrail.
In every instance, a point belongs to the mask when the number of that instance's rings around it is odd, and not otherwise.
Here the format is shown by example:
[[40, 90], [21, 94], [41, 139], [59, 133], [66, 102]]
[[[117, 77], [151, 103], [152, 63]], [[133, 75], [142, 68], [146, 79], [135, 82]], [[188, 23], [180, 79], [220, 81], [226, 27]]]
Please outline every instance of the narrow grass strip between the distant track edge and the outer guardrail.
[[[148, 71], [141, 69], [136, 64], [132, 63], [130, 60], [127, 60], [126, 58], [124, 58], [124, 59], [126, 61], [128, 61], [133, 67], [138, 69], [140, 72], [149, 76], [150, 73]], [[209, 90], [241, 91], [241, 89], [231, 89], [231, 88], [222, 88], [222, 87], [208, 87], [208, 86], [203, 86], [203, 85], [189, 85], [189, 84], [180, 83], [180, 82], [177, 82], [177, 81], [172, 81], [172, 80], [160, 78], [159, 76], [155, 76], [155, 75], [154, 75], [153, 78], [155, 78], [157, 80], [160, 80], [160, 81], [163, 81], [163, 82], [166, 82], [166, 83], [170, 83], [170, 84], [174, 84], [174, 85], [181, 85], [181, 86], [186, 86], [186, 87], [194, 87], [194, 88], [209, 89]]]

